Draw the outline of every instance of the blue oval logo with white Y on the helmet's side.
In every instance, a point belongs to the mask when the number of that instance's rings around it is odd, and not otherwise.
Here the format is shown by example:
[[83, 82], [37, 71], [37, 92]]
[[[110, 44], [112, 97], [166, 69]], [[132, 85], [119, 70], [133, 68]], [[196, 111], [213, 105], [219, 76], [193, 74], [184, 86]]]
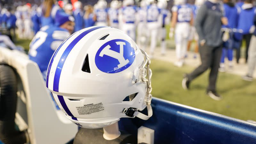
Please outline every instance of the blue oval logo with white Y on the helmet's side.
[[130, 67], [135, 59], [134, 49], [126, 40], [110, 40], [100, 47], [95, 64], [102, 72], [118, 73]]

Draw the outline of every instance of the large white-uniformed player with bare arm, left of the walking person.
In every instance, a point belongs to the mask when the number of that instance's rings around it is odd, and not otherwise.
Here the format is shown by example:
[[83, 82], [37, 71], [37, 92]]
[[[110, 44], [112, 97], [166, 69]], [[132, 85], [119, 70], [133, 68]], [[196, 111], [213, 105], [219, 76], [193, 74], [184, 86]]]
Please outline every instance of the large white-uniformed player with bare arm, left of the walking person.
[[169, 36], [173, 37], [175, 28], [175, 43], [177, 61], [174, 63], [177, 67], [182, 67], [188, 47], [188, 37], [190, 25], [193, 24], [193, 11], [191, 6], [186, 4], [185, 0], [175, 0], [172, 7], [172, 23]]

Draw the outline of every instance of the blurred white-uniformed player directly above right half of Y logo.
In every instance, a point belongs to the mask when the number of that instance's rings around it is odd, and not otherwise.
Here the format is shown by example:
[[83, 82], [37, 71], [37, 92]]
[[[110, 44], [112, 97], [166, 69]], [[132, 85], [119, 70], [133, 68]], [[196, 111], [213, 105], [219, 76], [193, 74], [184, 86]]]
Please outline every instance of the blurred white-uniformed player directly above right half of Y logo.
[[134, 5], [134, 0], [124, 0], [123, 8], [119, 11], [122, 18], [122, 30], [132, 40], [136, 39], [136, 15], [138, 8]]

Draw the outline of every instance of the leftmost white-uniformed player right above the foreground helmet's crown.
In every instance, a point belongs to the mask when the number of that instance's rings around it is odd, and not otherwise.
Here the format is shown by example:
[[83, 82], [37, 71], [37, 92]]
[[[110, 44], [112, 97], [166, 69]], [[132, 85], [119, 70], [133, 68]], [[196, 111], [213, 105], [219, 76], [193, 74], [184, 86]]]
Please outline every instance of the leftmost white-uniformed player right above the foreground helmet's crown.
[[108, 9], [107, 2], [105, 0], [99, 0], [97, 3], [97, 9], [94, 10], [96, 15], [97, 26], [108, 25]]

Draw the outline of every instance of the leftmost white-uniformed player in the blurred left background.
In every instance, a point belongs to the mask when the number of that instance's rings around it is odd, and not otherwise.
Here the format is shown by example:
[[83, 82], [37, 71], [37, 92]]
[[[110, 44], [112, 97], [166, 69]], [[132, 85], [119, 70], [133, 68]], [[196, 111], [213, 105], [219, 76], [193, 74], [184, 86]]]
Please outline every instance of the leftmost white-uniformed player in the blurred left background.
[[17, 7], [17, 9], [15, 11], [15, 16], [17, 18], [16, 26], [18, 27], [18, 36], [19, 36], [19, 38], [23, 38], [24, 23], [22, 20], [22, 6]]

